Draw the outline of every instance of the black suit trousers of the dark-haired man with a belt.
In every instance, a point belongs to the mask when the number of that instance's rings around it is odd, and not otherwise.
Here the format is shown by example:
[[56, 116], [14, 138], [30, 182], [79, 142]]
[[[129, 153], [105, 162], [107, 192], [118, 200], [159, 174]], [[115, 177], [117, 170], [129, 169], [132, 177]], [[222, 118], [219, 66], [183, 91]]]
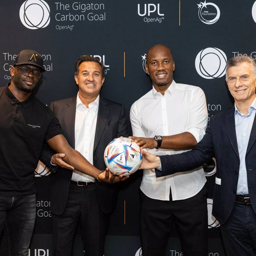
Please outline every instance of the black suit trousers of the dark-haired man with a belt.
[[102, 256], [110, 214], [99, 206], [96, 186], [70, 183], [68, 202], [62, 215], [52, 215], [54, 256], [73, 255], [76, 230], [80, 223], [86, 256]]

